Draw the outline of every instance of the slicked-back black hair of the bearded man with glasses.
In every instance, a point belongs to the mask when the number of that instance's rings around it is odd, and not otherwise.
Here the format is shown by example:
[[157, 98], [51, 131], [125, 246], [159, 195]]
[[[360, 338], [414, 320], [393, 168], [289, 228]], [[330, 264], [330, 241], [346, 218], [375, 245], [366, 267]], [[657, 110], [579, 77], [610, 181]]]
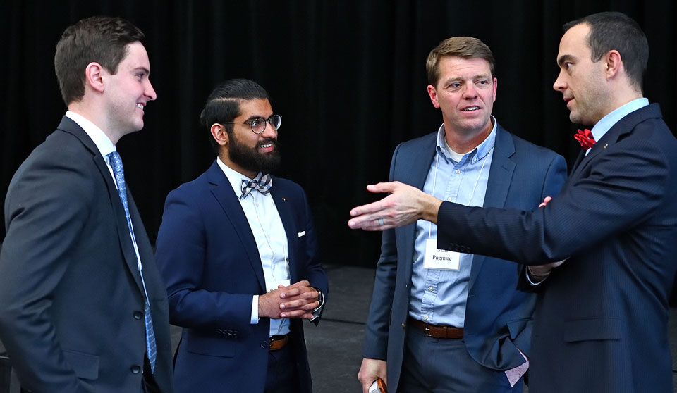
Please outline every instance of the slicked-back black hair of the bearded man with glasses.
[[[224, 124], [240, 116], [240, 101], [250, 99], [269, 99], [266, 89], [257, 82], [248, 79], [229, 79], [214, 87], [207, 97], [205, 108], [200, 113], [200, 124], [211, 130], [214, 123], [224, 125], [228, 135], [232, 135], [233, 125]], [[209, 134], [209, 142], [218, 153], [219, 145]]]

